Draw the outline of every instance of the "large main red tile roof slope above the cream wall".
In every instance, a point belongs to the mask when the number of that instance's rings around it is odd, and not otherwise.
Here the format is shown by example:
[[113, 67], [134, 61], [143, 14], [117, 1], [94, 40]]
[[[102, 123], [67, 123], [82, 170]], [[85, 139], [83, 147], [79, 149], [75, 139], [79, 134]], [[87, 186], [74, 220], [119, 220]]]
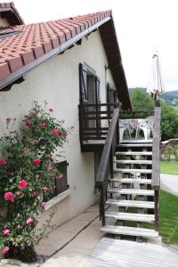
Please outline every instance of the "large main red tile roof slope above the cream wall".
[[0, 39], [0, 81], [110, 15], [111, 12], [97, 12], [66, 20], [0, 28], [0, 35], [20, 31], [17, 35]]

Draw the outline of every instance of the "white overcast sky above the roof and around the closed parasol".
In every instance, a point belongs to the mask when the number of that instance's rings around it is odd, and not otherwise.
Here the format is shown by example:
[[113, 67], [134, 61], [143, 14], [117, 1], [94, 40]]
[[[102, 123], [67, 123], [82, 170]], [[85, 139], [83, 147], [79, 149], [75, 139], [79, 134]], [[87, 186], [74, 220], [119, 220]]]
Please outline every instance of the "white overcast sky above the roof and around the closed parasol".
[[177, 0], [13, 2], [27, 24], [111, 9], [128, 86], [147, 86], [151, 56], [156, 47], [166, 91], [178, 90]]

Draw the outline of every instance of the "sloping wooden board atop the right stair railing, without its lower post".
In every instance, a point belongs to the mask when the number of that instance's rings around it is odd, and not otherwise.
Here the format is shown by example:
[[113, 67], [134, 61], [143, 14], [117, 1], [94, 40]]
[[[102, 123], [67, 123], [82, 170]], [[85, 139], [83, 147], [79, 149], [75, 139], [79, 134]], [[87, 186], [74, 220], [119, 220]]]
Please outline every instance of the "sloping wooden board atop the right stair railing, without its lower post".
[[161, 107], [155, 107], [154, 125], [153, 125], [153, 143], [152, 143], [152, 181], [153, 190], [160, 189], [160, 121]]

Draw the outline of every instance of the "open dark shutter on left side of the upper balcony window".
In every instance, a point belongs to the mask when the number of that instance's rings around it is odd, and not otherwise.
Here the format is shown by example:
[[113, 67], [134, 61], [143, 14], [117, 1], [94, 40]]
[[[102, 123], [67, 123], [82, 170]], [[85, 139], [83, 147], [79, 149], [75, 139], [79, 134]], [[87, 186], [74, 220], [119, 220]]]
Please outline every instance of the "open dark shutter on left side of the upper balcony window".
[[87, 102], [87, 70], [83, 64], [79, 64], [80, 101]]

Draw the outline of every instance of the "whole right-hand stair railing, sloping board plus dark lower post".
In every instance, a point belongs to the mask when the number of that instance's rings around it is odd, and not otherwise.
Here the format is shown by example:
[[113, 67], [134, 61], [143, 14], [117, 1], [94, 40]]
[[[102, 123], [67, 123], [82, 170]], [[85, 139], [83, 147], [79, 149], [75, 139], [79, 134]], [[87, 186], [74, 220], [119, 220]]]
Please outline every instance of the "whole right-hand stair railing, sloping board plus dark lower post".
[[155, 225], [159, 228], [159, 214], [158, 214], [158, 193], [160, 189], [160, 138], [161, 138], [161, 107], [160, 102], [155, 102], [155, 116], [153, 125], [153, 142], [152, 142], [152, 178], [151, 188], [155, 190]]

